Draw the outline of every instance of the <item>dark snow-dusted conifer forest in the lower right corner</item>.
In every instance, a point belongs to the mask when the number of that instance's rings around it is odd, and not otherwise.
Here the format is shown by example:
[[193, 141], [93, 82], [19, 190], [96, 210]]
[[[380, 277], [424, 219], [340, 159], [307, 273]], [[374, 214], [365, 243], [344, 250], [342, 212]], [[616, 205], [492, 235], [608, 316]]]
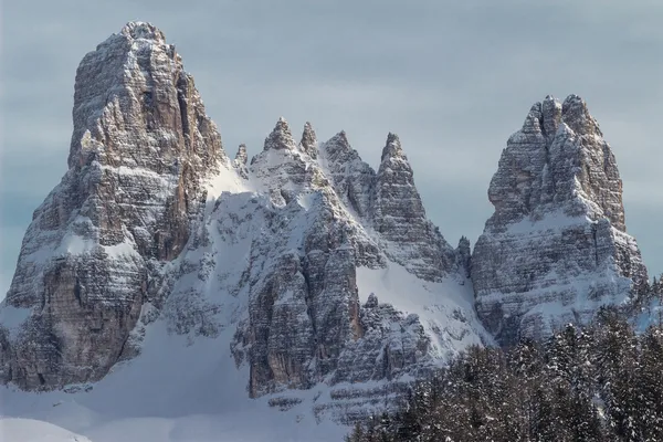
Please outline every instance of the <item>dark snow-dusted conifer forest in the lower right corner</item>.
[[663, 327], [602, 309], [545, 343], [470, 348], [346, 441], [663, 441]]

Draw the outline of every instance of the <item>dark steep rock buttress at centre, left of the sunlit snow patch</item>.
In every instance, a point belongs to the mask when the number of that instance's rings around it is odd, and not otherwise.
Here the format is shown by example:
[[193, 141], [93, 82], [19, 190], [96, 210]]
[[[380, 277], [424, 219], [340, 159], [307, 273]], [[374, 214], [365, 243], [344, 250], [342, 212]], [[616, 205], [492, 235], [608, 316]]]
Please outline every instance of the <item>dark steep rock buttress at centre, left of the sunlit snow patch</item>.
[[296, 201], [281, 209], [295, 225], [283, 225], [283, 214], [267, 217], [269, 229], [286, 241], [253, 242], [249, 317], [235, 334], [234, 354], [238, 361], [248, 359], [254, 397], [311, 387], [362, 333], [352, 243], [362, 244], [358, 253], [372, 250], [376, 264], [379, 251], [335, 219], [339, 207], [333, 193], [323, 190], [309, 199], [306, 212]]

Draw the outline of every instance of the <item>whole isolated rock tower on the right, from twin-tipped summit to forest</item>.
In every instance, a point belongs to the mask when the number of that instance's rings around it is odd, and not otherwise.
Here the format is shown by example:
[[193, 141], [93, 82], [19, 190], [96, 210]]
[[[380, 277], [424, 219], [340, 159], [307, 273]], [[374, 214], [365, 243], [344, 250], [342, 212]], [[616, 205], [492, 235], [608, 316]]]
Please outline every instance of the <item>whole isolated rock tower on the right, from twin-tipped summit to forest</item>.
[[477, 312], [502, 344], [587, 322], [646, 281], [625, 233], [614, 156], [580, 97], [532, 107], [488, 198], [495, 212], [474, 248], [472, 281]]

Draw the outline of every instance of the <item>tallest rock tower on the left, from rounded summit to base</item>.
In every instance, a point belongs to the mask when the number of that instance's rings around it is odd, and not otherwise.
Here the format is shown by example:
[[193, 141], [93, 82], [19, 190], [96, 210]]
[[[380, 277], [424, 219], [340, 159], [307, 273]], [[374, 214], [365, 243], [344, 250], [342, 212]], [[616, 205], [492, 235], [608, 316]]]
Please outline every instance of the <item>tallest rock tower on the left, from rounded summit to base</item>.
[[85, 55], [73, 119], [69, 171], [34, 212], [3, 306], [28, 317], [18, 334], [0, 326], [0, 380], [28, 389], [96, 380], [135, 354], [141, 305], [225, 160], [193, 78], [150, 24]]

